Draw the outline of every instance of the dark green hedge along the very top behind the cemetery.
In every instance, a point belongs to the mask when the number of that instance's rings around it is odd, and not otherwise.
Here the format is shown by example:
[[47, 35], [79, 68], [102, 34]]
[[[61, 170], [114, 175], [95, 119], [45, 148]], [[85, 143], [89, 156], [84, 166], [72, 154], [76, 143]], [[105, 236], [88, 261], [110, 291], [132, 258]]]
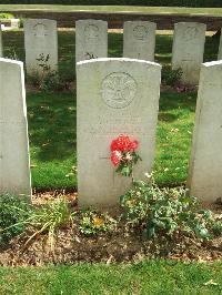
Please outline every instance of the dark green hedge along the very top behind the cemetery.
[[0, 0], [0, 4], [222, 7], [222, 0]]

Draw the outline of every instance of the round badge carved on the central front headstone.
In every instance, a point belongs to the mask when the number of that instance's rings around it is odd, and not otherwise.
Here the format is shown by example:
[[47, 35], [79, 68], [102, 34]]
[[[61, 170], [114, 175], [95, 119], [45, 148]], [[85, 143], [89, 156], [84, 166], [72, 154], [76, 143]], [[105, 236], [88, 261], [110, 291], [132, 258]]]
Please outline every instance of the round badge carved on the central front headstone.
[[131, 104], [138, 91], [135, 80], [128, 73], [115, 72], [104, 78], [101, 85], [102, 99], [113, 109], [122, 109]]

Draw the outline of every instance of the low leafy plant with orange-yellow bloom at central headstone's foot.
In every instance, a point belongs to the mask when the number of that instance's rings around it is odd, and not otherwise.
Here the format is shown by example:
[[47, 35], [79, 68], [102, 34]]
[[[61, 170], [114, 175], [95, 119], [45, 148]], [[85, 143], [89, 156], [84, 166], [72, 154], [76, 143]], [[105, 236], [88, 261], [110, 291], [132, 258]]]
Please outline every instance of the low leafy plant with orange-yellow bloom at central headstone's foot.
[[117, 225], [115, 220], [95, 210], [81, 211], [79, 218], [79, 230], [84, 235], [97, 235], [101, 232], [110, 232]]

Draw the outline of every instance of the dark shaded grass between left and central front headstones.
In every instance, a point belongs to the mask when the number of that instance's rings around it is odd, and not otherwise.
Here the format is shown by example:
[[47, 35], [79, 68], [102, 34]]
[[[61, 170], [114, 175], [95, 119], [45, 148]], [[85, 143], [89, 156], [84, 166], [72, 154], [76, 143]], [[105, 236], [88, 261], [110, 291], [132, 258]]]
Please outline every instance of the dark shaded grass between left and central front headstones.
[[75, 151], [74, 93], [28, 95], [30, 144], [41, 161], [62, 160]]

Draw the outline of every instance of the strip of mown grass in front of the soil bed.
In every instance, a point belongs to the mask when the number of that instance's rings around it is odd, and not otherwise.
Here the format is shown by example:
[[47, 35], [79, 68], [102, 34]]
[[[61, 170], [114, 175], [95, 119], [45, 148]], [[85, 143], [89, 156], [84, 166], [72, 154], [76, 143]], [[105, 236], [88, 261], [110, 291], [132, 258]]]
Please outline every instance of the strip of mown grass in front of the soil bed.
[[0, 268], [0, 294], [221, 294], [222, 264], [139, 264]]

